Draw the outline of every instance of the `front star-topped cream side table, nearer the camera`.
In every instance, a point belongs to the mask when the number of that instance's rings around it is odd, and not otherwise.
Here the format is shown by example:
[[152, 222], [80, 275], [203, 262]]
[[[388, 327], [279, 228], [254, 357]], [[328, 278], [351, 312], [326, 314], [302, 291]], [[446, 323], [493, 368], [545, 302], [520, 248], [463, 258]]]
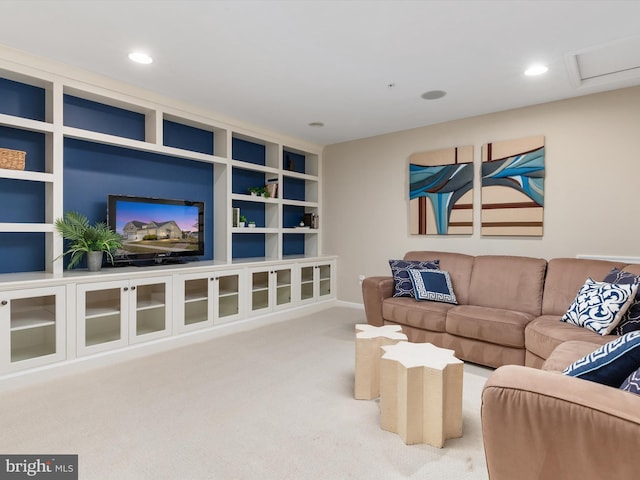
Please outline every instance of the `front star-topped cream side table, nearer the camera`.
[[430, 343], [383, 346], [380, 360], [380, 426], [407, 445], [442, 448], [462, 436], [464, 364], [453, 350]]

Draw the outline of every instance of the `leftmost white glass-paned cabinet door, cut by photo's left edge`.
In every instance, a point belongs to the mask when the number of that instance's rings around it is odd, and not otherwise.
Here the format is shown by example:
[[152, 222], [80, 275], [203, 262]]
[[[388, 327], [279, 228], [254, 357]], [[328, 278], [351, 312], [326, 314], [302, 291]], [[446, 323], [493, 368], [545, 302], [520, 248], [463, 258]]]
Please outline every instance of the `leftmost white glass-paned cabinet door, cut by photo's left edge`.
[[0, 372], [64, 360], [65, 287], [0, 292]]

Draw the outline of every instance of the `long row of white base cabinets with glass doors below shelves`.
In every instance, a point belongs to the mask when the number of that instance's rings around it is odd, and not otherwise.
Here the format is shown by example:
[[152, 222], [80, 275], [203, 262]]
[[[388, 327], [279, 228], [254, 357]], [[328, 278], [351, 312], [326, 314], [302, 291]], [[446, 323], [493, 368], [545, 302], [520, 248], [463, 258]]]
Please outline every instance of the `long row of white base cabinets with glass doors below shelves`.
[[327, 308], [335, 265], [326, 256], [1, 275], [0, 390]]

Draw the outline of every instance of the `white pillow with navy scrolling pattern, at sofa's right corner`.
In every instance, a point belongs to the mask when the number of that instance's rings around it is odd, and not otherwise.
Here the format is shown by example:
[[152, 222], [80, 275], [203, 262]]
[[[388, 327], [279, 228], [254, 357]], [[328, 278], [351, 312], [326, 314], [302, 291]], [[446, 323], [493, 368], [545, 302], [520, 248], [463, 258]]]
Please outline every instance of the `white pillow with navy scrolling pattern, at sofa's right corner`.
[[595, 282], [587, 278], [562, 318], [563, 322], [609, 335], [633, 302], [638, 285]]

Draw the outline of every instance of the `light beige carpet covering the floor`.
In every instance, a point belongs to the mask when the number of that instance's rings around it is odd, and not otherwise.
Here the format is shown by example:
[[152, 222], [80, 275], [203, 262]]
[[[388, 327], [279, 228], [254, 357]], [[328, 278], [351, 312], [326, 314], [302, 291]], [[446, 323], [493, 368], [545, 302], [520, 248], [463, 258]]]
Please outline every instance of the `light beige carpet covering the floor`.
[[464, 435], [405, 445], [354, 400], [354, 324], [335, 307], [0, 394], [0, 452], [79, 455], [79, 478], [486, 480], [480, 391]]

